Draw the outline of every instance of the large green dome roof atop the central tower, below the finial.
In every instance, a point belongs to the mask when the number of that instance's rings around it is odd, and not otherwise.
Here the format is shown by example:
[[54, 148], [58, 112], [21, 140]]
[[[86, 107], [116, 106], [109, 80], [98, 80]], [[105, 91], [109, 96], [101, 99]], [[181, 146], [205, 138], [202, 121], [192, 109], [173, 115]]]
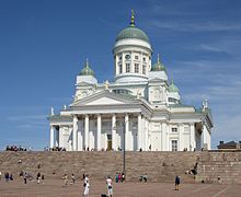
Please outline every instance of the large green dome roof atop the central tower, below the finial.
[[147, 34], [141, 31], [140, 28], [137, 28], [135, 26], [129, 26], [127, 28], [124, 28], [116, 37], [115, 42], [118, 42], [120, 39], [127, 39], [127, 38], [135, 38], [135, 39], [142, 39], [148, 43], [150, 43], [149, 37]]

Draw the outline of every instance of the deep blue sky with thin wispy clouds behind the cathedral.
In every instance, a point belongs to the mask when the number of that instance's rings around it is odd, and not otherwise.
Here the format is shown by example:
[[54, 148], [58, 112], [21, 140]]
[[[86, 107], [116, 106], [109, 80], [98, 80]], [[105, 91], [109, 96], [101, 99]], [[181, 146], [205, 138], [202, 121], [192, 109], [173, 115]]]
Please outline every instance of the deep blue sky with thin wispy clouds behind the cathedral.
[[113, 79], [112, 48], [131, 9], [183, 103], [209, 100], [213, 148], [241, 140], [241, 1], [1, 0], [0, 149], [48, 146], [50, 106], [70, 104], [87, 57], [99, 82]]

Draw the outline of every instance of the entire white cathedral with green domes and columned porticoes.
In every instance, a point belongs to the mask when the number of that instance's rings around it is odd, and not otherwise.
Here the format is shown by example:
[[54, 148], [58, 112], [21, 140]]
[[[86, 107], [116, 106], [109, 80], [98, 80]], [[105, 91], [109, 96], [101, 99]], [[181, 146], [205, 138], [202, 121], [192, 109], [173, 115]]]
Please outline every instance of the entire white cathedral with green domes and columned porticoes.
[[[72, 103], [48, 117], [50, 148], [67, 151], [194, 151], [210, 149], [213, 116], [184, 105], [164, 65], [151, 63], [147, 34], [135, 25], [117, 35], [114, 80], [99, 83], [88, 60], [77, 76]], [[125, 143], [125, 144], [124, 144]]]

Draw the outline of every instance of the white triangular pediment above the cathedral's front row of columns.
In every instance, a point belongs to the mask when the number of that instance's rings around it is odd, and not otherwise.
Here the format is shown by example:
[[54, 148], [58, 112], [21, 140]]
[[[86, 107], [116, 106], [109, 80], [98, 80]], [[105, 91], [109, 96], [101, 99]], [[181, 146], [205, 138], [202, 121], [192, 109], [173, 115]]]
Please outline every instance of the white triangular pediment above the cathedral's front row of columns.
[[131, 104], [137, 101], [124, 97], [110, 91], [101, 91], [72, 103], [70, 106], [97, 106], [97, 105], [122, 105]]

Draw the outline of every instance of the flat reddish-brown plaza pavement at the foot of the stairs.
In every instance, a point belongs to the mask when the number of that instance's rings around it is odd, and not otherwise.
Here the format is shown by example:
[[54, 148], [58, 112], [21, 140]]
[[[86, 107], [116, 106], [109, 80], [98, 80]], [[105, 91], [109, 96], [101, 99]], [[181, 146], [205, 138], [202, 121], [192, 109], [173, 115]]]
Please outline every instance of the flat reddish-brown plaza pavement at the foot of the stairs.
[[[90, 197], [105, 194], [105, 181], [91, 181]], [[73, 185], [64, 186], [62, 179], [46, 179], [41, 184], [36, 181], [16, 179], [10, 183], [0, 181], [0, 197], [80, 197], [83, 194], [83, 183], [77, 181]], [[180, 190], [174, 190], [173, 183], [114, 183], [114, 197], [238, 197], [241, 196], [240, 185], [218, 184], [181, 184]]]

